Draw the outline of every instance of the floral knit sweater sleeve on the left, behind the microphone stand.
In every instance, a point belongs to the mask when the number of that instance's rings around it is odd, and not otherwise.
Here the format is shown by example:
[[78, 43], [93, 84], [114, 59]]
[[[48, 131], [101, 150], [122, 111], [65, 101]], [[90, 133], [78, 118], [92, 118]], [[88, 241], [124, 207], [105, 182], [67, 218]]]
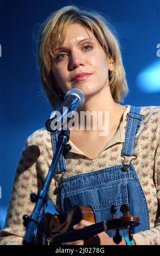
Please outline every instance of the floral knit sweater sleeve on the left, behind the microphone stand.
[[16, 169], [5, 228], [0, 231], [0, 245], [22, 245], [25, 234], [22, 217], [30, 215], [35, 205], [30, 202], [30, 193], [37, 193], [42, 186], [39, 156], [40, 148], [28, 138]]

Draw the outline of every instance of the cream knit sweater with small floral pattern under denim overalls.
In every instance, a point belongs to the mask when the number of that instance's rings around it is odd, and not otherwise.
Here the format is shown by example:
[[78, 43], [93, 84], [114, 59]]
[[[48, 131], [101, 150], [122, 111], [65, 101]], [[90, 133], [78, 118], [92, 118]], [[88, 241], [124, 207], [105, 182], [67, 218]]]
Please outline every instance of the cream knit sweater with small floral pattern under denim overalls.
[[[129, 111], [128, 105], [119, 129], [96, 159], [87, 157], [69, 141], [72, 149], [65, 156], [67, 170], [63, 173], [63, 178], [122, 163], [121, 149], [125, 138], [126, 114]], [[160, 245], [160, 107], [142, 107], [140, 114], [145, 115], [145, 119], [136, 135], [133, 154], [137, 155], [137, 159], [132, 163], [148, 202], [151, 229], [134, 234], [133, 238], [136, 245]], [[5, 228], [0, 231], [0, 245], [22, 245], [25, 234], [22, 216], [30, 215], [34, 209], [30, 193], [37, 193], [42, 188], [52, 159], [50, 132], [43, 128], [37, 130], [28, 137], [18, 162]], [[127, 157], [127, 161], [130, 160], [131, 157]], [[59, 209], [59, 198], [55, 193], [57, 186], [53, 179], [48, 194]]]

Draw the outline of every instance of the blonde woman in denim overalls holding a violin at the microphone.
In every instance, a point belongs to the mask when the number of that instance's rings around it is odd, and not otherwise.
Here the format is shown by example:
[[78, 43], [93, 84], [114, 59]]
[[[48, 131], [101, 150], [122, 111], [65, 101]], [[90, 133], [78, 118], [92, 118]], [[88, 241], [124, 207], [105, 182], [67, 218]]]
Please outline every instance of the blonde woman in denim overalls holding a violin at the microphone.
[[[43, 24], [38, 49], [42, 85], [53, 108], [65, 93], [78, 88], [86, 96], [81, 111], [102, 113], [108, 133], [100, 129], [71, 129], [72, 149], [49, 188], [49, 198], [66, 216], [75, 204], [91, 205], [97, 222], [111, 218], [111, 205], [129, 205], [140, 217], [133, 245], [160, 245], [158, 189], [160, 185], [160, 108], [123, 106], [127, 83], [116, 36], [98, 14], [64, 7]], [[105, 123], [105, 113], [109, 122]], [[97, 120], [98, 121], [98, 120]], [[80, 127], [80, 119], [78, 121]], [[99, 127], [99, 126], [98, 126]], [[55, 135], [45, 129], [33, 133], [24, 147], [12, 190], [1, 244], [21, 244], [23, 214], [31, 214], [30, 193], [40, 190], [53, 159]], [[53, 143], [53, 148], [52, 148]], [[80, 229], [91, 223], [81, 221]], [[127, 230], [119, 245], [128, 245]], [[100, 245], [116, 245], [114, 233], [98, 234]], [[97, 236], [96, 236], [97, 237]], [[89, 240], [96, 244], [95, 237]], [[79, 240], [71, 245], [83, 245]]]

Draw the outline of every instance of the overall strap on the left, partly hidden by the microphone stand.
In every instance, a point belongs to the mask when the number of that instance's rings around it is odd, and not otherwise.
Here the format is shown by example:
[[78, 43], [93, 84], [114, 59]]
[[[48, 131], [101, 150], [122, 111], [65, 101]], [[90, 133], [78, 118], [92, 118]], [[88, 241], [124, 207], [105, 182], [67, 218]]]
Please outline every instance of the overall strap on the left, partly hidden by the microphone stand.
[[[52, 134], [52, 149], [53, 149], [53, 156], [54, 156], [60, 131], [51, 132], [51, 134]], [[60, 156], [60, 160], [57, 164], [54, 174], [60, 174], [61, 172], [65, 172], [66, 169], [67, 169], [66, 159], [62, 154]]]

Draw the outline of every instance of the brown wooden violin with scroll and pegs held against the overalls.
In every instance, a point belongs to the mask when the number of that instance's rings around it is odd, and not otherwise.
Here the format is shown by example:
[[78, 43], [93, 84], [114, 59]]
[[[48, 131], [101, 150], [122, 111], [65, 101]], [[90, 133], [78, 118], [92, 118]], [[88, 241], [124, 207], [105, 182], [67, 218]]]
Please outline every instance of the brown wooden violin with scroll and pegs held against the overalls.
[[[131, 216], [129, 207], [126, 204], [121, 205], [120, 211], [123, 216], [116, 218], [116, 206], [111, 206], [112, 219], [95, 223], [95, 216], [91, 206], [75, 205], [67, 215], [66, 220], [61, 215], [52, 215], [47, 213], [47, 241], [48, 245], [60, 245], [63, 242], [73, 242], [76, 240], [86, 240], [92, 236], [95, 236], [103, 231], [116, 230], [116, 234], [113, 236], [113, 241], [119, 244], [122, 237], [119, 234], [120, 229], [129, 230], [129, 240], [133, 239], [133, 227], [139, 225], [139, 217]], [[74, 230], [73, 225], [77, 224], [81, 220], [92, 222], [89, 225], [80, 230]]]

